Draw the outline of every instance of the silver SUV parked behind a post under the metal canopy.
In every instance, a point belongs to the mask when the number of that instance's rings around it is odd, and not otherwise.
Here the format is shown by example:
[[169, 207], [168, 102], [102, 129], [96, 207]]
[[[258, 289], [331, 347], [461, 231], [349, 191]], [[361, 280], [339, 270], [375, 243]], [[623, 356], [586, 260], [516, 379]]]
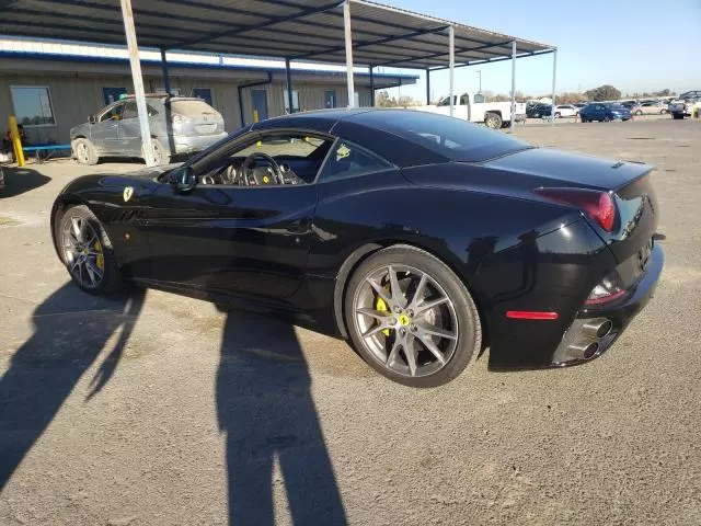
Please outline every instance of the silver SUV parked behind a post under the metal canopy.
[[[227, 136], [221, 114], [202, 99], [149, 94], [147, 111], [157, 164], [202, 151]], [[81, 164], [96, 164], [108, 156], [143, 158], [136, 99], [114, 102], [71, 128], [70, 144]]]

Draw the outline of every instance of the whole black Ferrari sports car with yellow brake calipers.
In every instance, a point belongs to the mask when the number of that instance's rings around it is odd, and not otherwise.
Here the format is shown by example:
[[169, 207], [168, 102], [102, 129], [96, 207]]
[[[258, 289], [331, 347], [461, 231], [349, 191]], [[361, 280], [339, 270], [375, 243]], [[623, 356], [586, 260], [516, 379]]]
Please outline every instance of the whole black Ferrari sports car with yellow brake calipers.
[[287, 315], [415, 387], [600, 355], [652, 296], [652, 167], [457, 118], [334, 110], [180, 165], [76, 179], [51, 211], [83, 290], [127, 282]]

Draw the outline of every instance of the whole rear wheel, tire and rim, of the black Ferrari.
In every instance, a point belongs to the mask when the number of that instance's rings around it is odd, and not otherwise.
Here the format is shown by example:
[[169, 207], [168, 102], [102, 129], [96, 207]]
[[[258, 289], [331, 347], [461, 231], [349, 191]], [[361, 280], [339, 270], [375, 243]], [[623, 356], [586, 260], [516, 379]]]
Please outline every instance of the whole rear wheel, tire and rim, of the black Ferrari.
[[391, 247], [364, 261], [348, 284], [344, 313], [366, 362], [411, 387], [452, 380], [482, 342], [468, 289], [443, 262], [414, 247]]

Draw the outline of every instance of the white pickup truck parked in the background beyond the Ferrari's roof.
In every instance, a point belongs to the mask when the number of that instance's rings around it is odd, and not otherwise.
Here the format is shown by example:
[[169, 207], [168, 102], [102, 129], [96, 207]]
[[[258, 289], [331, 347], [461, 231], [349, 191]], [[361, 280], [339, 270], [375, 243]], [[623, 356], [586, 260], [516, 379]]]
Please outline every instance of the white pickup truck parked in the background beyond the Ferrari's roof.
[[[490, 128], [498, 129], [503, 125], [508, 125], [512, 121], [512, 103], [510, 102], [486, 102], [482, 93], [463, 93], [462, 95], [453, 95], [452, 116], [471, 123], [484, 123]], [[450, 96], [445, 96], [438, 104], [427, 106], [416, 106], [415, 110], [421, 112], [439, 113], [441, 115], [450, 115]], [[516, 103], [516, 122], [526, 121], [526, 104]]]

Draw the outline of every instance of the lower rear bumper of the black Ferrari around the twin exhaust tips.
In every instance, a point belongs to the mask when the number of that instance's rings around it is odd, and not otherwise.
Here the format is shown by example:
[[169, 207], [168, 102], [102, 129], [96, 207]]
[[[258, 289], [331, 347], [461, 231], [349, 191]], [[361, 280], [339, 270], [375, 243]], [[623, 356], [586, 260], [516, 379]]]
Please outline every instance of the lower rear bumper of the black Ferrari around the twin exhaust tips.
[[[662, 248], [655, 244], [645, 273], [625, 296], [606, 306], [581, 309], [558, 346], [552, 365], [566, 366], [588, 362], [610, 347], [653, 297], [664, 264], [665, 254]], [[609, 321], [610, 325], [607, 323]], [[591, 327], [599, 324], [606, 324], [610, 330], [601, 335], [591, 334]], [[588, 350], [588, 353], [583, 356], [585, 350]]]

